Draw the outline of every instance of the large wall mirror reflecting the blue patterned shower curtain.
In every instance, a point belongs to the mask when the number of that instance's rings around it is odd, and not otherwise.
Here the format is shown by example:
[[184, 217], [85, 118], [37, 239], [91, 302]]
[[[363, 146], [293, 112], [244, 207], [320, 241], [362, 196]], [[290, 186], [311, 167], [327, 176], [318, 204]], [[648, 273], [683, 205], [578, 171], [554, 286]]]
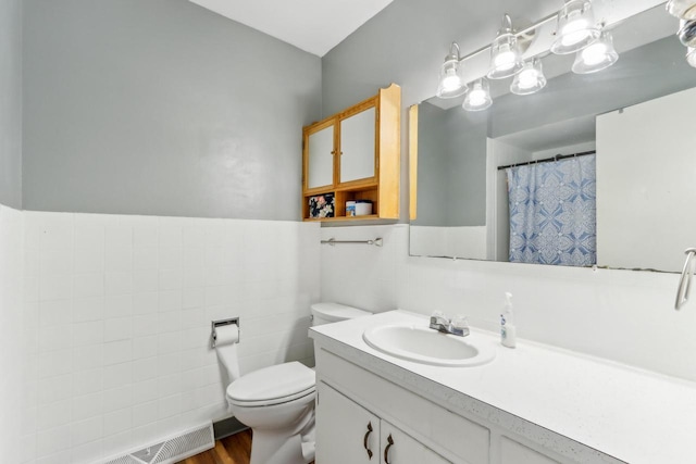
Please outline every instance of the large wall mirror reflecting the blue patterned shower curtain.
[[[410, 254], [681, 271], [696, 247], [696, 68], [678, 27], [657, 7], [612, 30], [620, 59], [600, 73], [549, 55], [538, 93], [512, 95], [506, 79], [482, 112], [437, 98], [412, 110]], [[539, 185], [544, 217], [530, 220]], [[527, 221], [548, 225], [534, 253]]]

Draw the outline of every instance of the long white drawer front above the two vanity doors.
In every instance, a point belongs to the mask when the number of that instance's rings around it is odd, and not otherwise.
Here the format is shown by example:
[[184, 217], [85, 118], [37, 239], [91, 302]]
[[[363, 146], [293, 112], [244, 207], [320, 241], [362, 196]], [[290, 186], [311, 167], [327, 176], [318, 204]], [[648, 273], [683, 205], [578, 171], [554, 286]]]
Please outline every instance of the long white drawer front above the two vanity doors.
[[325, 350], [315, 354], [322, 381], [453, 462], [488, 463], [490, 431], [486, 427]]

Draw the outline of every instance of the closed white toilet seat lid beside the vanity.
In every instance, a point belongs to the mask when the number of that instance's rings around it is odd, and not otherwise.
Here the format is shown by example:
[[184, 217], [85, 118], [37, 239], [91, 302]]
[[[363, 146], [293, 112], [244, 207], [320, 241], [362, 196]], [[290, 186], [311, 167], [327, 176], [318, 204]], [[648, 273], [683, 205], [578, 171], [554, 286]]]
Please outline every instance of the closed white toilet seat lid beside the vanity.
[[247, 407], [298, 400], [315, 391], [314, 371], [296, 361], [247, 374], [227, 387], [227, 401]]

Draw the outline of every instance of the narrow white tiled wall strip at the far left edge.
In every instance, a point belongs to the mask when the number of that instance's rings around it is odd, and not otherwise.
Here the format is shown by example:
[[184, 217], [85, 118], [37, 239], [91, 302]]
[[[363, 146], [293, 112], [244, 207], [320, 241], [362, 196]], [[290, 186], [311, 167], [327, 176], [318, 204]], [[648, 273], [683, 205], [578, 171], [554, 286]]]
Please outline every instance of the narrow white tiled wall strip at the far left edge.
[[[23, 258], [20, 211], [0, 205], [0, 450], [2, 460], [20, 462], [24, 442], [22, 428], [33, 427], [35, 412], [23, 418], [20, 406], [23, 398], [26, 340], [22, 338]], [[51, 343], [51, 335], [47, 342]], [[55, 409], [60, 409], [57, 404]], [[44, 417], [41, 417], [45, 421]], [[34, 444], [34, 443], [32, 443]]]

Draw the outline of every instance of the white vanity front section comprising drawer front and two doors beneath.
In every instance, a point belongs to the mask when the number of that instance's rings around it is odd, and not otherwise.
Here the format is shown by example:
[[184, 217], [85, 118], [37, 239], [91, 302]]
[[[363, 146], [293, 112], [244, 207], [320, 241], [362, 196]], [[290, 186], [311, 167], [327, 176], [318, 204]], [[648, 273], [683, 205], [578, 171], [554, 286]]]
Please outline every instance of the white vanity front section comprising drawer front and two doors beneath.
[[[316, 349], [315, 358], [316, 464], [386, 464], [385, 451], [391, 464], [489, 463], [487, 428], [328, 351]], [[363, 448], [370, 423], [372, 460]]]

